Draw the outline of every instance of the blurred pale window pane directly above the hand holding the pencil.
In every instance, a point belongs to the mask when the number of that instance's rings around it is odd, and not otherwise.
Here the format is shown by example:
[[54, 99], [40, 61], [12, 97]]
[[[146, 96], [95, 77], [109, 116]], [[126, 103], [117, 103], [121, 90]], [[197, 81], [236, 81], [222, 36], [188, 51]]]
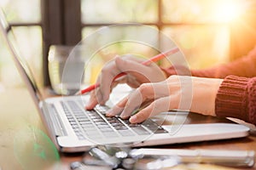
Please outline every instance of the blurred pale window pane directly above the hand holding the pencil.
[[90, 82], [96, 82], [102, 66], [116, 55], [135, 54], [149, 58], [159, 54], [158, 34], [155, 26], [84, 27], [82, 44], [86, 43], [84, 50], [89, 53], [87, 65], [91, 67], [87, 66], [85, 72], [90, 69]]

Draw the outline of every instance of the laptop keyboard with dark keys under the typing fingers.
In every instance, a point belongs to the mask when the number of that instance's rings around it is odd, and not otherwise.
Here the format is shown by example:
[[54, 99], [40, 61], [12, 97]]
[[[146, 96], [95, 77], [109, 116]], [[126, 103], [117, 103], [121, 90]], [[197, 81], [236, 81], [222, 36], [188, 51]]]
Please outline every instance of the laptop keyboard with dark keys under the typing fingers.
[[108, 106], [96, 105], [92, 111], [85, 111], [83, 105], [75, 101], [61, 102], [68, 122], [79, 139], [101, 139], [167, 133], [156, 122], [147, 119], [143, 123], [131, 124], [119, 116], [106, 116]]

